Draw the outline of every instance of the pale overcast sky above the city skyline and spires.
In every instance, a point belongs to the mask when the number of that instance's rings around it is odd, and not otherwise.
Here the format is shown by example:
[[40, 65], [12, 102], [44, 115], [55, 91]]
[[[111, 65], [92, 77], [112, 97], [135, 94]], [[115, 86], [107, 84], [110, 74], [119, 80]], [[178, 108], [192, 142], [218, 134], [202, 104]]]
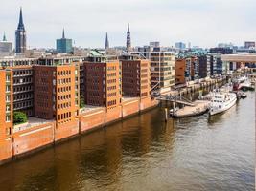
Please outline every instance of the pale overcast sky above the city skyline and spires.
[[77, 47], [104, 47], [105, 32], [110, 47], [125, 46], [128, 23], [134, 47], [150, 41], [204, 48], [256, 41], [255, 0], [0, 0], [0, 5], [0, 37], [5, 32], [14, 42], [22, 7], [29, 48], [55, 48], [63, 28]]

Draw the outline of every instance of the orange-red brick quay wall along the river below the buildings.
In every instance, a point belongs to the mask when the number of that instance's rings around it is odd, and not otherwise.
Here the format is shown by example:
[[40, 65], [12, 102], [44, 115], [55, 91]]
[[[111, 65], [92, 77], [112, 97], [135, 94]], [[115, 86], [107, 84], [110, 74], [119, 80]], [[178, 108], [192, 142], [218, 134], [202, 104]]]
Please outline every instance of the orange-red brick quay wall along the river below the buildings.
[[79, 136], [157, 105], [158, 101], [151, 100], [151, 97], [141, 100], [139, 98], [131, 99], [115, 108], [88, 110], [66, 123], [57, 124], [56, 121], [51, 121], [14, 132], [12, 138], [0, 140], [0, 164], [29, 155], [48, 145]]

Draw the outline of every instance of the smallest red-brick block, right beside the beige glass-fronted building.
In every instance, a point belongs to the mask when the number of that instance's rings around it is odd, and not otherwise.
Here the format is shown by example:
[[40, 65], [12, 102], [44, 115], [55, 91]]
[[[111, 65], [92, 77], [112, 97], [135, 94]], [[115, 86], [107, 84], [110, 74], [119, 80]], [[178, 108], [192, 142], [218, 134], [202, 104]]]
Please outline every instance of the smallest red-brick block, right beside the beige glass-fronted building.
[[122, 63], [122, 96], [151, 96], [151, 61], [124, 55]]

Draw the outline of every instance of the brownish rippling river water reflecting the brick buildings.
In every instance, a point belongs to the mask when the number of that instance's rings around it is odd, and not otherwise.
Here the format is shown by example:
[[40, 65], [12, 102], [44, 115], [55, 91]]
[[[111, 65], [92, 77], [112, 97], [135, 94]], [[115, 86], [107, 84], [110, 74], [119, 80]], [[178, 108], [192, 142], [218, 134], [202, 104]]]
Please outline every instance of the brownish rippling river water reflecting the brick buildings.
[[254, 190], [255, 95], [216, 117], [164, 108], [0, 167], [0, 190]]

